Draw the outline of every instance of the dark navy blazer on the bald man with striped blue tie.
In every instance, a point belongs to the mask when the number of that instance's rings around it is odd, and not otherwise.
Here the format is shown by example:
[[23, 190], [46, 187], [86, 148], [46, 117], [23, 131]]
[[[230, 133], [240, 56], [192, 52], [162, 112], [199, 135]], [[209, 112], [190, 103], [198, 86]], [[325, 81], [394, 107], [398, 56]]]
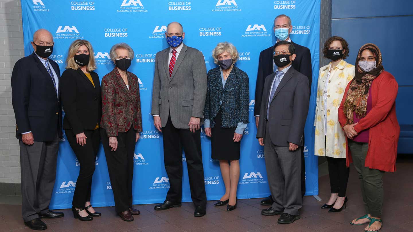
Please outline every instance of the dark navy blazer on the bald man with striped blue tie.
[[[60, 78], [59, 66], [49, 64]], [[60, 83], [59, 83], [60, 86]], [[62, 137], [62, 105], [45, 66], [33, 52], [19, 59], [12, 72], [12, 103], [16, 116], [16, 137], [31, 131], [34, 141], [52, 141]]]

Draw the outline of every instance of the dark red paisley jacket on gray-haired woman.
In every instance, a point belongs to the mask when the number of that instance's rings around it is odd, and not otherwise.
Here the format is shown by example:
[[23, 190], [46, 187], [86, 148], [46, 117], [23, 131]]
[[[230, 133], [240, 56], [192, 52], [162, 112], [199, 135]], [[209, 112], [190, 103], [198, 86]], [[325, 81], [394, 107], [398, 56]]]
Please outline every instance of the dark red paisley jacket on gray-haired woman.
[[131, 126], [136, 132], [142, 131], [142, 114], [138, 77], [126, 71], [129, 90], [116, 67], [102, 78], [102, 120], [100, 127], [107, 136], [117, 136], [127, 132]]

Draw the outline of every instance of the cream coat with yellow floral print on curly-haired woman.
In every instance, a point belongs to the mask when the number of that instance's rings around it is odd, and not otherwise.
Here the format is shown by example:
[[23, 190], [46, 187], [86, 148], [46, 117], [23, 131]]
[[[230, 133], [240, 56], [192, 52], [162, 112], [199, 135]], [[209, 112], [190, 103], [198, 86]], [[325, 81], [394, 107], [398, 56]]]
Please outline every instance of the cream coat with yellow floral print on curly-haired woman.
[[[344, 95], [347, 84], [354, 78], [354, 65], [342, 60], [337, 66], [332, 67], [329, 80], [328, 67], [320, 68], [318, 74], [317, 107], [314, 121], [315, 142], [314, 153], [316, 156], [330, 156], [333, 158], [346, 158], [346, 136], [338, 122], [338, 107]], [[324, 86], [327, 87], [327, 133], [324, 133]], [[326, 134], [326, 135], [325, 135]]]

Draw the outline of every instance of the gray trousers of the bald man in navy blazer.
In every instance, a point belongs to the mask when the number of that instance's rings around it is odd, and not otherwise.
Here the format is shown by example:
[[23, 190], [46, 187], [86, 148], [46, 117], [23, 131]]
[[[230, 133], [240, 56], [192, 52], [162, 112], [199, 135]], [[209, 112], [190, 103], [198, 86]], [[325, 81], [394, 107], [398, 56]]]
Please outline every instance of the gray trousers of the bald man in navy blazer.
[[56, 179], [59, 136], [50, 142], [26, 145], [21, 140], [21, 213], [25, 222], [39, 218], [38, 213], [49, 210]]

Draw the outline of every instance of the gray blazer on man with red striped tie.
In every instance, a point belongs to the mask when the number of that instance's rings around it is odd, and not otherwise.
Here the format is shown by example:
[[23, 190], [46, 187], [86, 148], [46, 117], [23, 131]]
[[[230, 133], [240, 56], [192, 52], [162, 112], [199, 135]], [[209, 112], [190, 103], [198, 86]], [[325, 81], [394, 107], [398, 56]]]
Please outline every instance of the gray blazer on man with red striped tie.
[[159, 114], [162, 127], [170, 114], [175, 128], [187, 129], [191, 117], [204, 118], [207, 67], [202, 52], [183, 44], [169, 77], [170, 51], [156, 54], [151, 114]]

